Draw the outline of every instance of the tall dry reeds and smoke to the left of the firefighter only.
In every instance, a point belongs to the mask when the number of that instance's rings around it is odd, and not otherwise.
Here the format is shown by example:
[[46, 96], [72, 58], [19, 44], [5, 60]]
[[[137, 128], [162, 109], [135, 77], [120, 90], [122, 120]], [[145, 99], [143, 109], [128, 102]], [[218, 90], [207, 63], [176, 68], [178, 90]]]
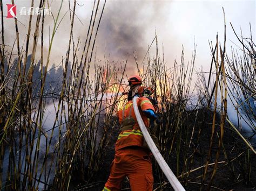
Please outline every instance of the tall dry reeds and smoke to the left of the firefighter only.
[[[33, 3], [31, 1], [32, 6]], [[40, 1], [38, 7], [43, 8], [46, 3], [48, 2]], [[102, 10], [99, 10], [100, 3], [103, 5]], [[45, 90], [46, 79], [49, 73], [52, 44], [63, 19], [60, 18], [63, 1], [60, 2], [54, 20], [45, 63], [43, 62], [45, 15], [37, 16], [33, 39], [30, 38], [32, 33], [32, 16], [30, 16], [24, 49], [19, 45], [18, 23], [15, 18], [16, 45], [14, 44], [11, 52], [6, 52], [2, 11], [1, 189], [68, 189], [73, 171], [79, 169], [82, 179], [90, 180], [93, 173], [99, 170], [100, 161], [104, 158], [104, 150], [107, 147], [107, 136], [104, 132], [112, 127], [109, 118], [112, 111], [116, 110], [118, 102], [118, 94], [112, 93], [106, 96], [106, 93], [116, 86], [114, 84], [122, 84], [123, 79], [118, 71], [125, 70], [110, 65], [106, 59], [103, 66], [93, 60], [95, 39], [105, 3], [99, 1], [94, 3], [87, 38], [83, 39], [83, 42], [75, 42], [72, 35], [77, 3], [73, 2], [73, 8], [70, 8], [69, 12], [69, 47], [62, 60], [61, 86], [50, 91]], [[2, 8], [1, 1], [1, 10]], [[39, 40], [41, 40], [41, 50], [37, 50]], [[28, 52], [30, 41], [32, 41], [32, 51]], [[82, 43], [84, 43], [83, 53], [78, 58], [78, 48]], [[15, 46], [18, 56], [14, 60]], [[41, 59], [38, 62], [41, 76], [33, 79], [33, 73], [37, 72], [35, 67], [38, 63], [35, 54], [38, 51], [41, 52]], [[27, 64], [28, 57], [29, 64]], [[89, 75], [92, 70], [95, 76]], [[112, 84], [113, 82], [116, 83]], [[50, 115], [54, 117], [52, 127], [45, 129], [44, 115], [49, 100], [54, 107], [54, 113]]]

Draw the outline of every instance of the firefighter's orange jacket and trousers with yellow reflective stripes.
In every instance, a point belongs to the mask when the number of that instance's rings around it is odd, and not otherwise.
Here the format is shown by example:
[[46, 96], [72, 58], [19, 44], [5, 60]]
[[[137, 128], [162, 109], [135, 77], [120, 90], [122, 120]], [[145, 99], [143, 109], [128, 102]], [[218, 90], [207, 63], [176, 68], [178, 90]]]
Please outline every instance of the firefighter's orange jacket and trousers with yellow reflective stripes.
[[[139, 97], [137, 100], [140, 115], [147, 128], [150, 126], [149, 119], [143, 114], [143, 110], [152, 109], [152, 103], [146, 97]], [[153, 189], [153, 175], [150, 152], [143, 148], [143, 134], [133, 110], [132, 101], [128, 101], [123, 109], [118, 111], [119, 123], [122, 124], [126, 117], [131, 116], [135, 124], [132, 130], [120, 132], [116, 147], [114, 160], [111, 164], [110, 176], [105, 183], [104, 191], [120, 190], [122, 181], [128, 176], [132, 191], [143, 191]]]

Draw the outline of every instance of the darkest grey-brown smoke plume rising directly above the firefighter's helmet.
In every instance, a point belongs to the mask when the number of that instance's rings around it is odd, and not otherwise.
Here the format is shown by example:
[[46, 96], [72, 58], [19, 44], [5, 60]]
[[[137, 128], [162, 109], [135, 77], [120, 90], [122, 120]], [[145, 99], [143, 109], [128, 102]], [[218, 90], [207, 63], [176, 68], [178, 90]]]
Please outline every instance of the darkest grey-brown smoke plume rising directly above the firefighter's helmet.
[[[134, 2], [131, 2], [134, 3]], [[110, 2], [106, 6], [104, 18], [100, 25], [99, 47], [105, 47], [113, 60], [126, 60], [130, 63], [128, 70], [134, 66], [134, 54], [138, 59], [142, 59], [146, 53], [145, 26], [139, 23], [139, 9], [126, 9], [129, 2]], [[100, 46], [100, 44], [102, 46]], [[102, 50], [103, 51], [103, 50]]]

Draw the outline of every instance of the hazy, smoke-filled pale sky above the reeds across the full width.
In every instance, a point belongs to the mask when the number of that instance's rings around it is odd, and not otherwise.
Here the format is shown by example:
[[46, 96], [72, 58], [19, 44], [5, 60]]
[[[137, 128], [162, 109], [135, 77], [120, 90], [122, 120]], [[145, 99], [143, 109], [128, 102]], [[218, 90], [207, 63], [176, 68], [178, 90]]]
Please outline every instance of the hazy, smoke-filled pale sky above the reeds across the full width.
[[[39, 1], [35, 1], [34, 7]], [[49, 1], [51, 2], [51, 1]], [[56, 17], [60, 0], [53, 0], [51, 10]], [[3, 1], [4, 15], [6, 16], [6, 3]], [[17, 18], [19, 20], [19, 34], [21, 46], [25, 45], [26, 33], [28, 30], [29, 16], [19, 15], [21, 7], [30, 7], [30, 1], [16, 0]], [[78, 38], [84, 45], [89, 25], [93, 1], [78, 0], [75, 20], [74, 39]], [[102, 8], [103, 1], [100, 2]], [[203, 66], [208, 71], [211, 62], [211, 52], [208, 40], [215, 43], [215, 36], [219, 34], [221, 43], [224, 41], [224, 16], [222, 7], [225, 9], [227, 25], [227, 47], [238, 44], [231, 29], [230, 22], [234, 29], [240, 34], [240, 27], [244, 38], [250, 37], [250, 22], [252, 35], [255, 40], [255, 1], [112, 1], [106, 2], [102, 23], [99, 27], [97, 38], [97, 54], [102, 58], [104, 50], [110, 54], [111, 60], [129, 59], [129, 69], [135, 67], [133, 52], [137, 52], [139, 60], [144, 58], [147, 46], [151, 44], [155, 32], [158, 36], [158, 44], [164, 46], [165, 62], [173, 66], [174, 59], [180, 60], [181, 47], [185, 48], [185, 60], [191, 60], [194, 43], [197, 45], [196, 67]], [[73, 7], [73, 4], [71, 4]], [[68, 11], [68, 0], [64, 1], [61, 17]], [[33, 23], [36, 16], [33, 16]], [[21, 24], [22, 23], [22, 24]], [[83, 23], [83, 24], [82, 24]], [[4, 18], [5, 45], [12, 46], [16, 38], [14, 19]], [[52, 32], [53, 19], [46, 17], [45, 21], [45, 52], [48, 51], [49, 28]], [[33, 33], [33, 30], [32, 30]], [[69, 13], [63, 19], [53, 41], [51, 63], [59, 63], [62, 56], [65, 56], [69, 43], [70, 20]], [[32, 35], [31, 35], [32, 38]], [[233, 44], [232, 41], [235, 43]], [[2, 43], [2, 42], [1, 42]], [[38, 41], [38, 44], [40, 42]], [[32, 45], [32, 44], [31, 44]], [[82, 46], [81, 46], [82, 47]], [[82, 49], [82, 48], [80, 48]], [[38, 49], [39, 50], [39, 49]], [[151, 49], [153, 57], [154, 47]], [[227, 49], [227, 53], [230, 49]], [[127, 57], [127, 53], [130, 56]], [[39, 54], [38, 54], [39, 55]], [[46, 55], [45, 55], [46, 56]], [[39, 57], [38, 57], [39, 59]]]

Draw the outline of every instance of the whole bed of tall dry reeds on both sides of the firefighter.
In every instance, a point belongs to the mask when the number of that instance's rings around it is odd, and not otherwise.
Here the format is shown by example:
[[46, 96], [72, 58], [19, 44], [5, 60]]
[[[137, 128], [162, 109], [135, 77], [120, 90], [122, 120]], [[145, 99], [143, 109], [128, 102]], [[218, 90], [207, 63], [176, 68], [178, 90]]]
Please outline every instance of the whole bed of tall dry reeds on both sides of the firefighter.
[[[46, 3], [41, 0], [39, 8]], [[40, 15], [33, 31], [30, 17], [25, 47], [19, 44], [15, 18], [17, 39], [11, 49], [6, 49], [1, 1], [2, 190], [103, 187], [107, 178], [103, 168], [110, 165], [113, 143], [117, 139], [116, 114], [126, 100], [122, 93], [127, 91], [127, 61], [114, 65], [107, 56], [100, 62], [93, 54], [105, 3], [94, 2], [87, 36], [75, 41], [73, 23], [77, 3], [76, 0], [73, 4], [69, 2], [69, 46], [58, 69], [61, 71], [58, 86], [49, 89], [52, 45], [62, 22], [63, 0], [54, 20], [47, 55], [43, 51], [45, 16]], [[38, 41], [41, 49], [37, 49]], [[215, 44], [210, 43], [212, 62], [208, 76], [203, 71], [196, 74], [194, 69], [196, 45], [189, 62], [182, 51], [181, 59], [168, 68], [156, 36], [153, 58], [146, 54], [141, 65], [135, 59], [143, 85], [155, 90], [153, 97], [158, 102], [155, 131], [160, 152], [188, 190], [232, 189], [239, 183], [253, 186], [255, 146], [250, 141], [255, 135], [255, 45], [252, 37], [246, 41], [241, 38], [242, 56], [233, 51], [230, 57], [225, 41], [226, 34], [223, 45], [218, 36]], [[36, 52], [41, 53], [39, 61]], [[38, 71], [39, 75], [35, 76]], [[197, 75], [195, 82], [192, 81], [194, 75]], [[228, 96], [236, 108], [238, 125], [228, 117]], [[52, 121], [46, 128], [49, 105], [53, 108]], [[239, 131], [241, 119], [250, 127], [252, 135], [245, 137]], [[154, 190], [171, 189], [155, 161], [153, 167]], [[124, 181], [123, 189], [129, 189], [129, 180]]]

